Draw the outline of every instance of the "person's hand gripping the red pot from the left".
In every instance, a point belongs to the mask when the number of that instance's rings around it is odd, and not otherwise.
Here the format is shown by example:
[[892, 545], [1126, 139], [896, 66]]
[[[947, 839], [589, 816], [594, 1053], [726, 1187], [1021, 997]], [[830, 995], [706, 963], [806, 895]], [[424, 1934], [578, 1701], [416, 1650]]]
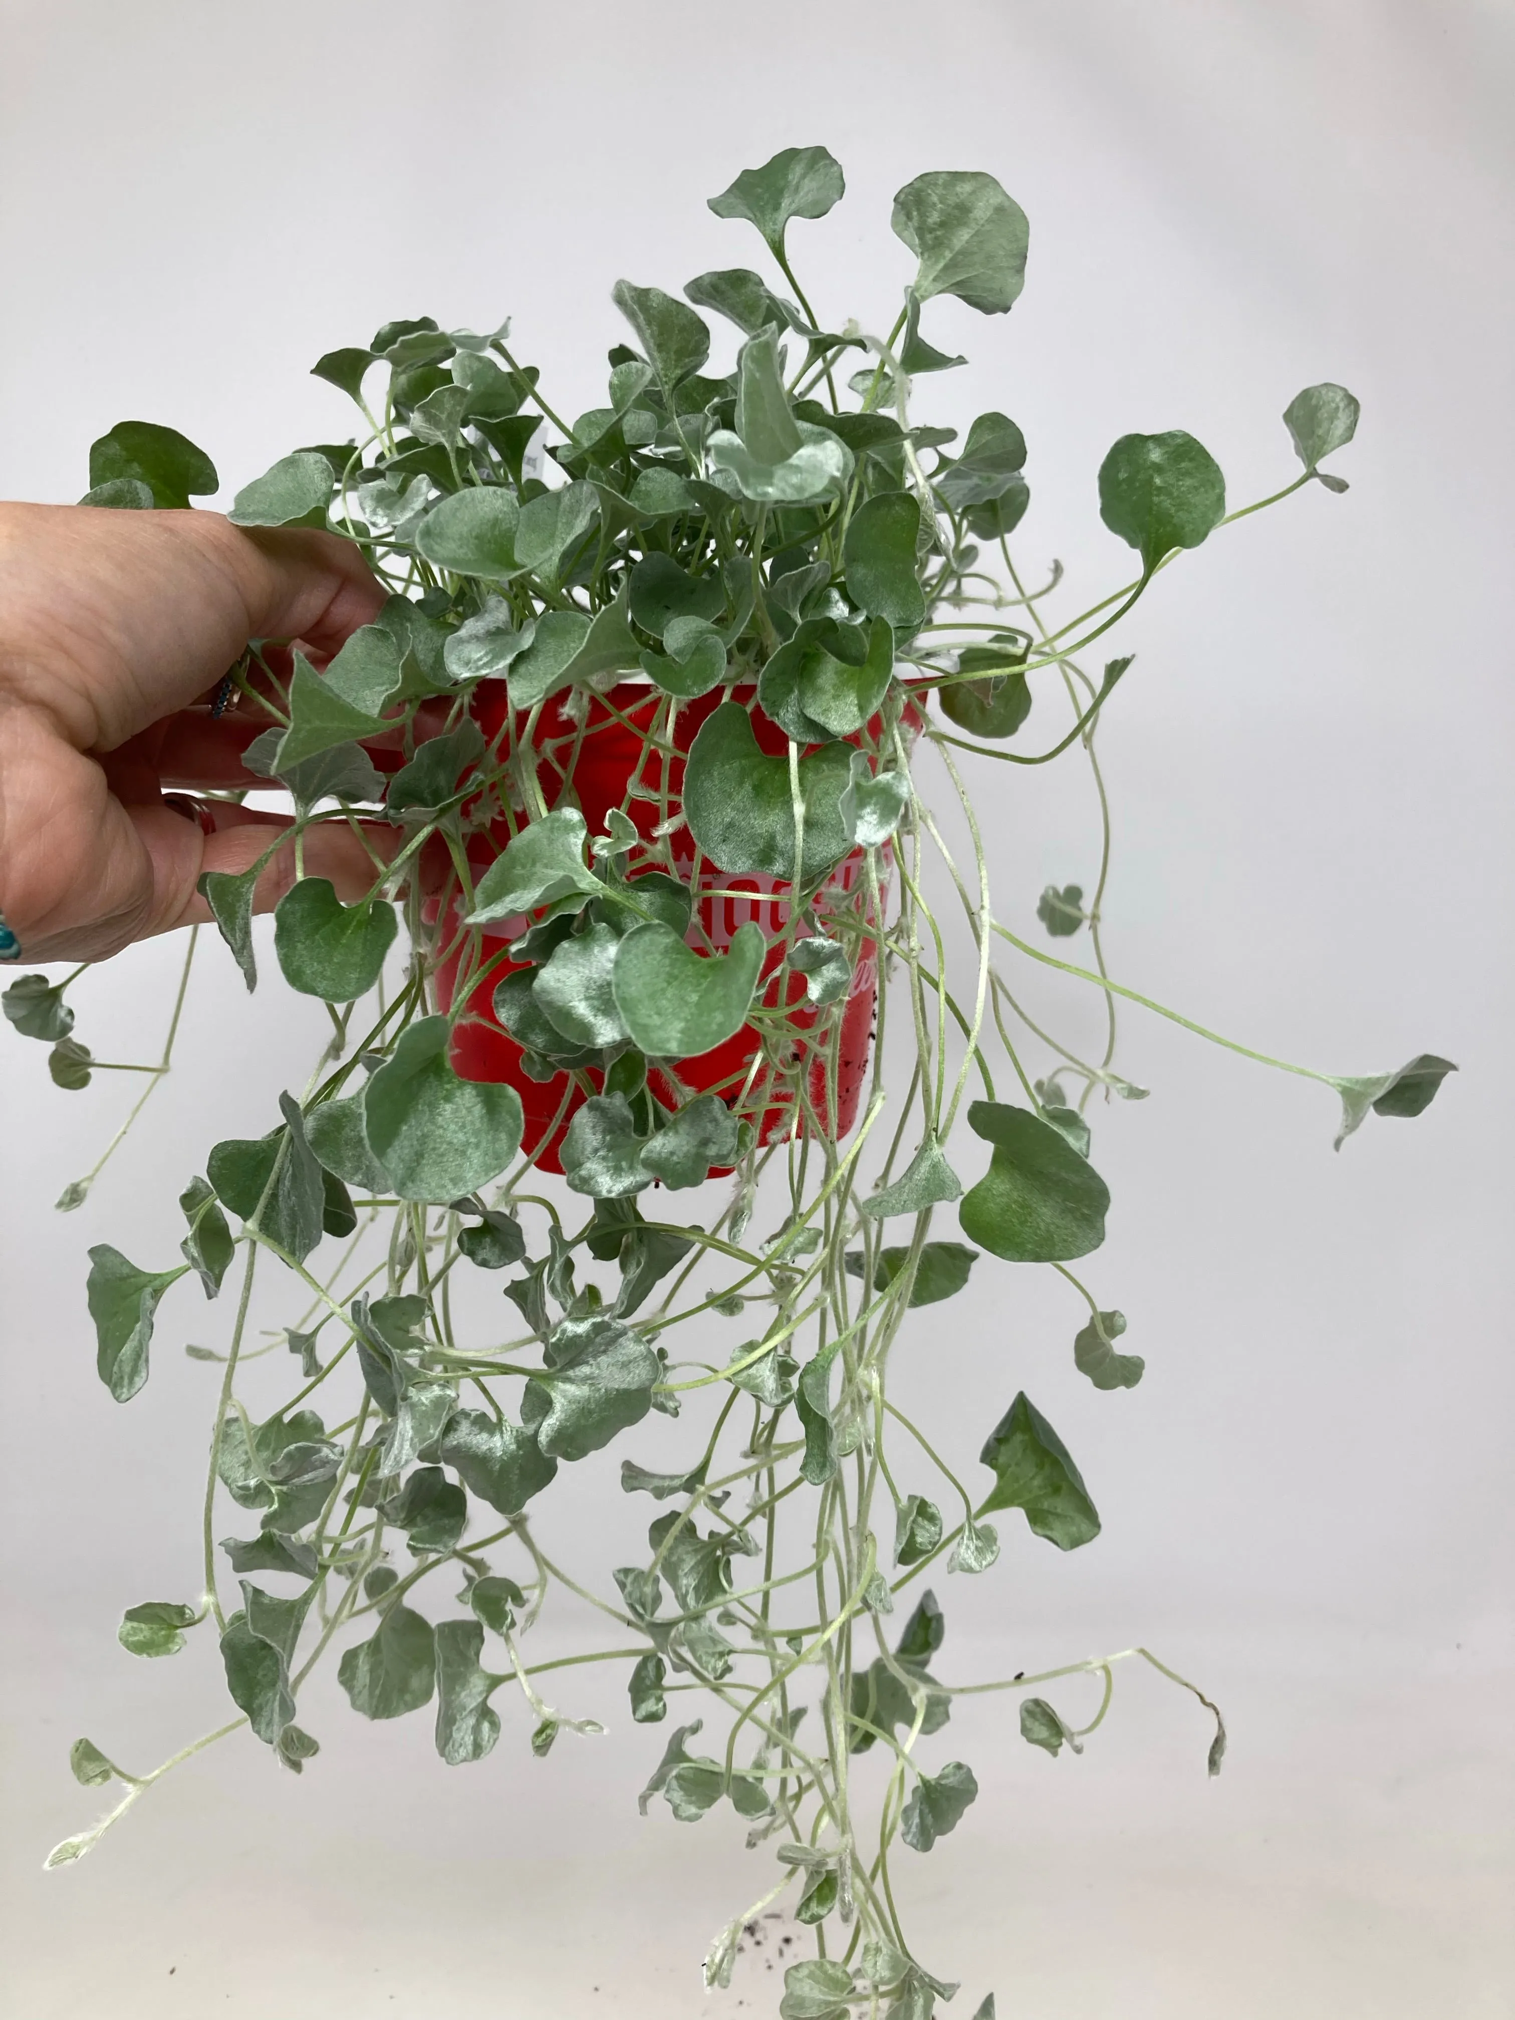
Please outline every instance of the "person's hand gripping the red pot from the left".
[[[210, 919], [204, 871], [236, 875], [283, 816], [218, 800], [206, 834], [164, 792], [257, 780], [267, 719], [210, 717], [248, 638], [321, 663], [384, 602], [329, 533], [240, 531], [210, 511], [0, 505], [0, 941], [6, 957], [99, 962]], [[257, 911], [293, 881], [259, 879]], [[305, 875], [362, 897], [374, 865], [347, 826], [305, 836]], [[4, 935], [10, 927], [10, 939]]]

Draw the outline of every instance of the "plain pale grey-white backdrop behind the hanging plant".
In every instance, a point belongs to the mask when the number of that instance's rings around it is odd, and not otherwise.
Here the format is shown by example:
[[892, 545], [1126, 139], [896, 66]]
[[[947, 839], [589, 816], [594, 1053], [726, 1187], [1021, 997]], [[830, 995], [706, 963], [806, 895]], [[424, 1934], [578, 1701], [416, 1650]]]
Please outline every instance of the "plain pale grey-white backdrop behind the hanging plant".
[[[889, 198], [921, 170], [986, 168], [1028, 210], [1014, 313], [931, 307], [927, 333], [972, 370], [921, 386], [919, 412], [1016, 416], [1016, 545], [1036, 576], [1060, 558], [1081, 602], [1129, 572], [1095, 509], [1117, 434], [1192, 430], [1244, 503], [1293, 475], [1279, 414], [1301, 386], [1357, 392], [1349, 495], [1307, 487], [1218, 535], [1123, 632], [1139, 656], [1103, 731], [1107, 945], [1121, 980], [1287, 1058], [1374, 1073], [1430, 1048], [1462, 1071], [1426, 1117], [1370, 1119], [1337, 1157], [1325, 1089], [1123, 1014], [1123, 1069], [1153, 1093], [1095, 1117], [1117, 1204], [1089, 1279], [1145, 1382], [1095, 1394], [1071, 1295], [992, 1262], [899, 1355], [966, 1467], [1028, 1386], [1105, 1517], [1073, 1557], [1002, 1517], [990, 1578], [937, 1580], [939, 1673], [1145, 1640], [1222, 1701], [1232, 1755], [1206, 1784], [1204, 1713], [1155, 1677], [1121, 1677], [1083, 1759], [1024, 1747], [980, 1699], [949, 1735], [980, 1804], [903, 1883], [925, 1959], [966, 1980], [964, 2020], [988, 1986], [1014, 2020], [1503, 2020], [1509, 6], [8, 0], [0, 24], [16, 497], [77, 497], [89, 442], [125, 416], [204, 444], [228, 497], [345, 430], [309, 366], [394, 315], [511, 315], [578, 412], [622, 335], [614, 277], [677, 289], [760, 265], [703, 200], [810, 141], [848, 176], [790, 240], [822, 317], [893, 319], [911, 263]], [[1046, 691], [1032, 723], [1056, 707]], [[1004, 917], [1032, 921], [1048, 879], [1093, 883], [1077, 770], [994, 770], [982, 796]], [[307, 1008], [277, 986], [248, 1004], [206, 955], [152, 1125], [75, 1216], [50, 1200], [129, 1089], [63, 1095], [40, 1046], [0, 1048], [0, 2006], [695, 2014], [699, 1951], [772, 1868], [719, 1816], [636, 1816], [663, 1735], [628, 1725], [618, 1685], [564, 1687], [568, 1709], [608, 1705], [610, 1739], [537, 1763], [507, 1715], [467, 1770], [434, 1759], [426, 1719], [366, 1727], [317, 1695], [303, 1780], [232, 1741], [83, 1866], [36, 1871], [95, 1814], [71, 1739], [149, 1763], [220, 1715], [214, 1648], [133, 1664], [115, 1620], [196, 1590], [212, 1372], [178, 1347], [224, 1315], [176, 1293], [154, 1382], [121, 1410], [83, 1311], [85, 1246], [172, 1258], [204, 1147], [267, 1129], [319, 1042]], [[79, 1034], [147, 1056], [176, 962], [160, 943], [87, 978]], [[1026, 994], [1097, 1028], [1077, 984], [1032, 974]], [[580, 1513], [551, 1517], [598, 1578], [630, 1525], [620, 1450], [602, 1456], [576, 1475]], [[733, 2004], [772, 2012], [762, 1965]]]

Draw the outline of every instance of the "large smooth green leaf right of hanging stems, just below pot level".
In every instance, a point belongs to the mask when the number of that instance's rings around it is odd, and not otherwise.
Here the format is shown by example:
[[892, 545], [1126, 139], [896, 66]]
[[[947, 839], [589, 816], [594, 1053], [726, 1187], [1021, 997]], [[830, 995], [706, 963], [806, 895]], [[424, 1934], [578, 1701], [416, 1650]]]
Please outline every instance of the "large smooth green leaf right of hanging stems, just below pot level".
[[994, 1145], [957, 1208], [972, 1242], [1006, 1262], [1071, 1262], [1099, 1248], [1109, 1188], [1058, 1129], [998, 1101], [974, 1101], [968, 1125]]

